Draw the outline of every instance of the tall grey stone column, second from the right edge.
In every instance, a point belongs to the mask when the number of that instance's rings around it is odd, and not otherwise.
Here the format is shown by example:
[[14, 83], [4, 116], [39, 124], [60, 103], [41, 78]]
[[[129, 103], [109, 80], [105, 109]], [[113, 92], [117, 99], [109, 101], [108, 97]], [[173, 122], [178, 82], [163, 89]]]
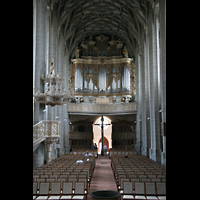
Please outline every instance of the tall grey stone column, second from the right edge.
[[[154, 18], [154, 19], [153, 19]], [[151, 148], [149, 157], [157, 162], [160, 156], [160, 120], [159, 120], [159, 98], [158, 98], [158, 65], [157, 65], [157, 43], [156, 43], [156, 20], [152, 15], [152, 7], [148, 9], [148, 33], [149, 33], [149, 105], [150, 105], [150, 134]]]

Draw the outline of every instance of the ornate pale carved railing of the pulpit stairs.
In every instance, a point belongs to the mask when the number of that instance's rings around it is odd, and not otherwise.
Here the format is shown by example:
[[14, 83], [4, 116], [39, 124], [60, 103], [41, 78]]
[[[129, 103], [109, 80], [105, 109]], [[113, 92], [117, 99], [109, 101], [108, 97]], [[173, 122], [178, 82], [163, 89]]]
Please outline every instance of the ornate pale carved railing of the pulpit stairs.
[[58, 136], [60, 121], [42, 120], [33, 126], [33, 142], [44, 136]]

